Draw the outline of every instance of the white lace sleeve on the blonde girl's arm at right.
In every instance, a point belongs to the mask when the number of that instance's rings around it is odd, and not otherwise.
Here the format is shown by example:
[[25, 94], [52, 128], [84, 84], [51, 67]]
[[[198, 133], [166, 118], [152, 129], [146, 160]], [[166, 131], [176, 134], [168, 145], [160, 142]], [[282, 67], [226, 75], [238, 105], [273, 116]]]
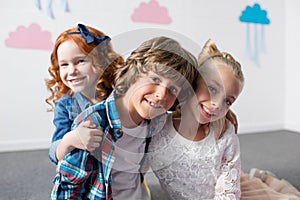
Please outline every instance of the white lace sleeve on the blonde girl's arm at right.
[[215, 200], [240, 199], [240, 144], [235, 133], [229, 134], [227, 148], [222, 158], [221, 173], [215, 188]]

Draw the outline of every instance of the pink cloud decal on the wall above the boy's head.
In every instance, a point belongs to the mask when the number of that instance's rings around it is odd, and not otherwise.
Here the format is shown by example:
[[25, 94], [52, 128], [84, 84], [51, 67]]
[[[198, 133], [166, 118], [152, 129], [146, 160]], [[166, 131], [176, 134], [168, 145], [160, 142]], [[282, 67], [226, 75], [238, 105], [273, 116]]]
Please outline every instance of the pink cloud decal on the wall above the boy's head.
[[172, 21], [167, 8], [160, 6], [156, 0], [150, 0], [148, 4], [141, 3], [138, 8], [134, 9], [131, 19], [134, 22], [157, 24], [170, 24]]

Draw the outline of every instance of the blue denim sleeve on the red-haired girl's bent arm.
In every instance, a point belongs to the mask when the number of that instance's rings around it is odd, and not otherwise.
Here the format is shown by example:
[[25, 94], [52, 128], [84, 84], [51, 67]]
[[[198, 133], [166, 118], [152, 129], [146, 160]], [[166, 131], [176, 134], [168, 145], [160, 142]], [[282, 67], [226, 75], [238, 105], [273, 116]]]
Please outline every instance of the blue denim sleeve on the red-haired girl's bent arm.
[[71, 105], [68, 105], [67, 102], [59, 101], [54, 107], [53, 124], [55, 130], [51, 139], [49, 158], [55, 164], [58, 162], [56, 158], [56, 148], [64, 135], [71, 130], [71, 125], [73, 123], [72, 113], [70, 112], [70, 109], [68, 109], [70, 106]]

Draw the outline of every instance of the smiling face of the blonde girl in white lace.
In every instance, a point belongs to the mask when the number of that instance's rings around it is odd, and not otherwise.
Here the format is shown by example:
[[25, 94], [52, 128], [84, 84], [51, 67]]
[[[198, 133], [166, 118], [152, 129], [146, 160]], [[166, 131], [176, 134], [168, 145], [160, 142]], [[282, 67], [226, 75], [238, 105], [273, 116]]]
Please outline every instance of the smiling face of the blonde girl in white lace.
[[[217, 63], [201, 70], [195, 99], [188, 102], [196, 120], [205, 124], [223, 118], [242, 90], [231, 67]], [[191, 100], [192, 101], [192, 100]], [[195, 109], [196, 108], [196, 109]]]

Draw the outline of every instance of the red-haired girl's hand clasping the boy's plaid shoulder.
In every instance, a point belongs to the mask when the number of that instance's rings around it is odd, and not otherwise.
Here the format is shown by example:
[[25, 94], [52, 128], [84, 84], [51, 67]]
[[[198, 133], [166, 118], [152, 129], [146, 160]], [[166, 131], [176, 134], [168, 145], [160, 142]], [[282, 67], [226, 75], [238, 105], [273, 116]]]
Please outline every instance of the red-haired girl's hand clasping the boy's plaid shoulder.
[[79, 124], [75, 132], [80, 140], [80, 149], [87, 150], [91, 154], [100, 146], [103, 132], [96, 128], [93, 122], [85, 121]]

